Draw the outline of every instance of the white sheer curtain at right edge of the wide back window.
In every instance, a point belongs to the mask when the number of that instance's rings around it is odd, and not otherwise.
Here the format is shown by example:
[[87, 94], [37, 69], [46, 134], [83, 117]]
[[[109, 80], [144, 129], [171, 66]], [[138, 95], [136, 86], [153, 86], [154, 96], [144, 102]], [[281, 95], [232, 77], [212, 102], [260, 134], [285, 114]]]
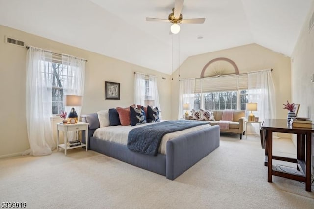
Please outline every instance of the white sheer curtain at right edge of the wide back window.
[[[275, 87], [271, 70], [248, 73], [249, 102], [257, 103], [257, 111], [253, 113], [259, 121], [276, 118]], [[258, 127], [254, 130], [258, 132]]]

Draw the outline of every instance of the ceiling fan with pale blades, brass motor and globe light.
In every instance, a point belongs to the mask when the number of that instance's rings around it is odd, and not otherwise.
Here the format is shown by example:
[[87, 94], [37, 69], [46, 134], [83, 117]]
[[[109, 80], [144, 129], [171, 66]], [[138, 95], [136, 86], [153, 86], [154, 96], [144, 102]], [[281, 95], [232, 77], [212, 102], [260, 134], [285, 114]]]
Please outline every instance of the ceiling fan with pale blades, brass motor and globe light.
[[180, 23], [204, 23], [205, 18], [193, 18], [193, 19], [182, 19], [181, 10], [183, 7], [184, 0], [175, 0], [175, 7], [172, 9], [172, 13], [169, 14], [168, 19], [160, 18], [146, 18], [146, 21], [156, 21], [156, 22], [170, 22], [172, 23], [170, 31], [173, 34], [180, 32]]

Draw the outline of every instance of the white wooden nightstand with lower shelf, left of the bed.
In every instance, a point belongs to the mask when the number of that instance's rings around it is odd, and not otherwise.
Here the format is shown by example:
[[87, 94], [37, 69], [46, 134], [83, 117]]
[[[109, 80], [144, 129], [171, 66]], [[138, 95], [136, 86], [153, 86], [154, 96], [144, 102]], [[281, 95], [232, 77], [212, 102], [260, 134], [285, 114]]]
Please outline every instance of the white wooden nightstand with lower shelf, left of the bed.
[[[67, 155], [67, 150], [78, 148], [78, 147], [86, 147], [86, 151], [87, 151], [87, 146], [88, 146], [88, 140], [87, 139], [88, 139], [88, 125], [89, 125], [89, 123], [78, 122], [75, 124], [63, 124], [63, 123], [56, 123], [56, 124], [57, 124], [57, 151], [59, 151], [59, 147], [64, 149], [64, 155]], [[63, 131], [63, 133], [64, 133], [64, 144], [59, 144], [60, 130]], [[76, 131], [77, 139], [78, 139], [78, 131], [83, 131], [83, 130], [85, 130], [86, 144], [81, 143], [81, 145], [78, 145], [75, 147], [68, 147], [67, 146], [67, 142], [68, 142], [67, 132], [68, 131]]]

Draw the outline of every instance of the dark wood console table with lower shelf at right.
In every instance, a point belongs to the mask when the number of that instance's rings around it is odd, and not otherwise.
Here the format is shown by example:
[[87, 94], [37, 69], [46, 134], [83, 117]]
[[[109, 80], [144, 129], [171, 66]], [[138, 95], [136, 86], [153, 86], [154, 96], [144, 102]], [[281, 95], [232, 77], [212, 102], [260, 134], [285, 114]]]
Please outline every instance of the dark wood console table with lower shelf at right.
[[[261, 139], [265, 137], [265, 166], [268, 166], [268, 182], [272, 175], [305, 182], [305, 190], [311, 191], [311, 135], [314, 129], [292, 128], [285, 119], [266, 119], [262, 125]], [[297, 134], [297, 159], [273, 156], [273, 132]], [[272, 169], [272, 160], [297, 163], [297, 169], [302, 174], [290, 174]]]

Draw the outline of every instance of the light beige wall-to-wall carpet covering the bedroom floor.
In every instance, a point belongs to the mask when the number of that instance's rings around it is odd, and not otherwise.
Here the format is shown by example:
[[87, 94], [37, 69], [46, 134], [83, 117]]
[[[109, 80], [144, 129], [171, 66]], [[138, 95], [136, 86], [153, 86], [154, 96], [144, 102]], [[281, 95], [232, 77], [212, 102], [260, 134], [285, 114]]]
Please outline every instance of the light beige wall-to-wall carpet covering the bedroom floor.
[[[274, 150], [285, 153], [285, 143], [293, 148], [291, 140], [277, 139]], [[0, 191], [1, 202], [26, 202], [30, 209], [314, 208], [314, 192], [303, 183], [276, 176], [267, 182], [258, 137], [229, 134], [174, 181], [78, 148], [67, 156], [59, 151], [0, 159]]]

